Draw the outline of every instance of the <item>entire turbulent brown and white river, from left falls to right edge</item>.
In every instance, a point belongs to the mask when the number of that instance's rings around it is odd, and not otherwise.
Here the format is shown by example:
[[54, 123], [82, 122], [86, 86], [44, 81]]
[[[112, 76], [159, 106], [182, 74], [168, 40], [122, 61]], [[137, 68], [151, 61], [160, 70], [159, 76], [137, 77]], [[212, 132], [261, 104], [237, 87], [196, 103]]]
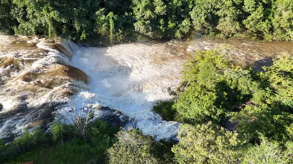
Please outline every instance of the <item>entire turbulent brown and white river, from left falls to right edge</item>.
[[164, 121], [152, 107], [172, 98], [167, 88], [179, 86], [181, 66], [195, 51], [217, 49], [236, 65], [259, 71], [273, 56], [293, 54], [293, 43], [236, 38], [91, 48], [61, 39], [0, 37], [0, 138], [54, 119], [68, 122], [72, 107], [95, 109], [95, 117], [112, 124], [170, 138], [179, 123]]

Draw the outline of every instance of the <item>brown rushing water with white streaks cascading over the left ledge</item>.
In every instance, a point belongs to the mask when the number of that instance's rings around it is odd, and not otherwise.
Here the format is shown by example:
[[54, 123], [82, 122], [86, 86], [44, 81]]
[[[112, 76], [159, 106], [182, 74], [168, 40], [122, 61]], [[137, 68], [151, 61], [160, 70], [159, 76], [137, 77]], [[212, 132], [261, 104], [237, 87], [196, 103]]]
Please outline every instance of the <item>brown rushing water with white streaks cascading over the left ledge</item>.
[[87, 90], [87, 75], [67, 65], [66, 46], [60, 38], [0, 36], [0, 138], [21, 132], [17, 127], [48, 125], [60, 104]]

